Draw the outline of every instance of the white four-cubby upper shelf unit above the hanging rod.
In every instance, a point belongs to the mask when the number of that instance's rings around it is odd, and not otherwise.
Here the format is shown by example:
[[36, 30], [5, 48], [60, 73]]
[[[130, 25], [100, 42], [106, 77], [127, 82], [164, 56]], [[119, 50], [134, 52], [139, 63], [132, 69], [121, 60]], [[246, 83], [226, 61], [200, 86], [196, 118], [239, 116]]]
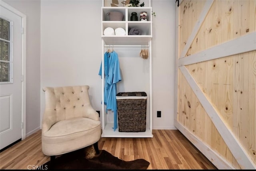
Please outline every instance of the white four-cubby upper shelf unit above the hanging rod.
[[[123, 19], [110, 19], [111, 12], [120, 12]], [[138, 21], [131, 21], [132, 13], [136, 12]], [[147, 13], [147, 21], [140, 21], [140, 13]], [[122, 28], [125, 35], [104, 34], [106, 28]], [[131, 29], [138, 29], [141, 35], [129, 35]], [[148, 45], [152, 38], [152, 7], [102, 7], [102, 38], [106, 45]]]

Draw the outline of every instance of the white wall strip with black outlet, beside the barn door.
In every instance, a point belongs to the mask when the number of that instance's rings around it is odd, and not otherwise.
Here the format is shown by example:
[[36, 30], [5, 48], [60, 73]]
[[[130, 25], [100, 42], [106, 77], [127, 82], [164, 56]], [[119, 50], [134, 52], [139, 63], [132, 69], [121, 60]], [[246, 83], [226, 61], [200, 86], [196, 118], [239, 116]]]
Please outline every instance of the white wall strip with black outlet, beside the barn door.
[[[152, 0], [152, 127], [174, 127], [175, 0]], [[156, 112], [162, 112], [157, 118]]]

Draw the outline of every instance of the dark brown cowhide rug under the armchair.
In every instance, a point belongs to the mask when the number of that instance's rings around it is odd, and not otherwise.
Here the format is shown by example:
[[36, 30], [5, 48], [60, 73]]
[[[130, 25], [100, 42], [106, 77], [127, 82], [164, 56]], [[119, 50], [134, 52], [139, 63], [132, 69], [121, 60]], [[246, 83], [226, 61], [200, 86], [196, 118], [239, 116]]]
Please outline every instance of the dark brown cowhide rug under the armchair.
[[96, 154], [93, 145], [85, 147], [70, 153], [57, 156], [53, 163], [50, 161], [44, 163], [40, 168], [48, 168], [50, 170], [116, 170], [116, 169], [147, 169], [149, 162], [144, 159], [136, 159], [133, 161], [124, 161], [113, 156], [106, 150], [100, 150], [100, 154]]

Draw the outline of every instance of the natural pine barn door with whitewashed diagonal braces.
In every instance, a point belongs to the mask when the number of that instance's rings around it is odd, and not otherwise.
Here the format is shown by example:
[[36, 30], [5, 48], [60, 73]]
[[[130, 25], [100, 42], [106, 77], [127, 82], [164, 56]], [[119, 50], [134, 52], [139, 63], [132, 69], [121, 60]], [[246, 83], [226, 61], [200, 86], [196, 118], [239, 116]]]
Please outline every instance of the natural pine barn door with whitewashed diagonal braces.
[[175, 126], [218, 169], [256, 169], [256, 0], [177, 5]]

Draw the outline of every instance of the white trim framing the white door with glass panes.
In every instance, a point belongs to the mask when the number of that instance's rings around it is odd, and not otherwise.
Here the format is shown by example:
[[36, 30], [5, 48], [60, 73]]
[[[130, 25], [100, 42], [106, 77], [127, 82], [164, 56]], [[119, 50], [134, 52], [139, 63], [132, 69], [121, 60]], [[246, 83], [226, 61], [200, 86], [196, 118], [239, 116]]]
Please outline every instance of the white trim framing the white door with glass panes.
[[0, 0], [0, 6], [22, 18], [21, 139], [26, 138], [26, 15]]

